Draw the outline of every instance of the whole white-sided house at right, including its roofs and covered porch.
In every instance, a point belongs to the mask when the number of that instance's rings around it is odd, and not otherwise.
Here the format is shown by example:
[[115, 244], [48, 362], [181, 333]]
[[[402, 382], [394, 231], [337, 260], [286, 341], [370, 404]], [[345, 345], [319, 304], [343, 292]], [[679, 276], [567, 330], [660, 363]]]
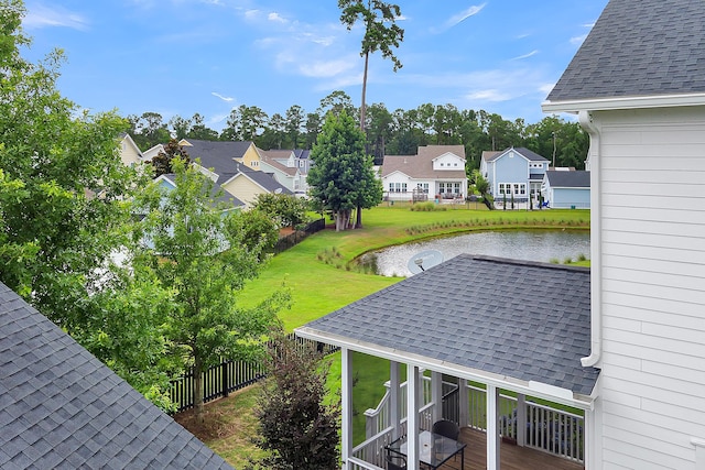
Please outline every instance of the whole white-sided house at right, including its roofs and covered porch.
[[[704, 25], [702, 1], [610, 0], [542, 105], [577, 114], [590, 136], [588, 272], [456, 256], [296, 329], [341, 348], [345, 469], [386, 468], [398, 439], [405, 468], [421, 468], [422, 431], [438, 418], [481, 429], [490, 470], [505, 437], [531, 447], [538, 425], [543, 451], [588, 470], [705, 469]], [[391, 365], [384, 420], [356, 445], [358, 353]], [[501, 391], [522, 405], [503, 413]], [[583, 420], [527, 419], [529, 396]]]

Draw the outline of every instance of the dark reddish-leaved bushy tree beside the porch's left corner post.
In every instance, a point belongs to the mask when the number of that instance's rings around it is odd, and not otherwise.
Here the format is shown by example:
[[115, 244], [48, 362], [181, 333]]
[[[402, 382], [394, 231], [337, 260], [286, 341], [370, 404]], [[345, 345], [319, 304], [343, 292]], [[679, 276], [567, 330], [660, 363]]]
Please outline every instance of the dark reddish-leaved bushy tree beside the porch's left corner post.
[[[335, 470], [339, 468], [339, 401], [326, 404], [330, 363], [312, 347], [274, 335], [269, 378], [258, 397], [258, 447], [267, 457], [258, 468]], [[260, 467], [261, 466], [261, 467]]]

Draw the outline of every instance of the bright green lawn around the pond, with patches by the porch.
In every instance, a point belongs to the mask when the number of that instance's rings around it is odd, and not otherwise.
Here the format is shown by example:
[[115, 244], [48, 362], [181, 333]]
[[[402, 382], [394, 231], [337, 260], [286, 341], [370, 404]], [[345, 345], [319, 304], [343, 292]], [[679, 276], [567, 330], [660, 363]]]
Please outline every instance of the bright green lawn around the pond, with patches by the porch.
[[[261, 275], [246, 286], [239, 302], [242, 306], [253, 306], [285, 284], [292, 291], [293, 305], [282, 311], [280, 318], [285, 329], [291, 331], [401, 281], [357, 271], [354, 261], [367, 251], [468, 231], [589, 229], [587, 210], [488, 211], [481, 206], [475, 209], [474, 204], [470, 207], [422, 212], [411, 211], [409, 205], [395, 204], [366, 210], [362, 229], [344, 232], [324, 230], [275, 255]], [[389, 378], [389, 362], [365, 354], [355, 354], [352, 360], [356, 374], [354, 439], [359, 442], [365, 435], [364, 412], [377, 406], [384, 394], [383, 383]], [[338, 356], [333, 358], [328, 386], [332, 391], [340, 390]], [[254, 418], [248, 412], [256, 393], [257, 387], [240, 392], [237, 401], [243, 404], [232, 408], [238, 419], [237, 427], [242, 430], [206, 439], [208, 446], [236, 466], [241, 466], [246, 456], [257, 453], [257, 449], [242, 436], [256, 429]]]

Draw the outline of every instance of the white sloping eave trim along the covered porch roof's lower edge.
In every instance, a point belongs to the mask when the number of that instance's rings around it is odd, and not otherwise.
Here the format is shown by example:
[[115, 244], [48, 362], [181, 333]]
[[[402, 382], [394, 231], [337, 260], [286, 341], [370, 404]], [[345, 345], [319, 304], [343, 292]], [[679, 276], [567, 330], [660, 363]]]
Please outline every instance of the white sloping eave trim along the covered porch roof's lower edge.
[[536, 381], [524, 381], [509, 375], [501, 375], [492, 372], [482, 371], [463, 365], [457, 365], [447, 361], [440, 361], [412, 352], [400, 351], [392, 348], [381, 347], [362, 340], [351, 340], [311, 327], [295, 328], [296, 336], [312, 339], [315, 341], [335, 345], [340, 348], [347, 348], [352, 351], [362, 352], [365, 354], [375, 356], [390, 361], [401, 363], [413, 363], [422, 369], [430, 369], [435, 372], [446, 373], [448, 375], [462, 376], [463, 379], [474, 380], [477, 382], [495, 385], [499, 389], [511, 390], [513, 392], [523, 393], [525, 395], [535, 396], [538, 398], [561, 403], [579, 409], [589, 411], [594, 407], [594, 397], [575, 393], [567, 389], [550, 385]]

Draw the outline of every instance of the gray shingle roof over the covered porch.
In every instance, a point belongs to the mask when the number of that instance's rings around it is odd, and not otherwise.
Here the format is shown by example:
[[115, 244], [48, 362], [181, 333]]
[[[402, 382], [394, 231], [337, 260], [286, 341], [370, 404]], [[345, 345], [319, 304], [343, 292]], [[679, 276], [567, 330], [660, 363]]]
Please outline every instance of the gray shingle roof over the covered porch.
[[305, 326], [588, 395], [589, 269], [462, 254]]

